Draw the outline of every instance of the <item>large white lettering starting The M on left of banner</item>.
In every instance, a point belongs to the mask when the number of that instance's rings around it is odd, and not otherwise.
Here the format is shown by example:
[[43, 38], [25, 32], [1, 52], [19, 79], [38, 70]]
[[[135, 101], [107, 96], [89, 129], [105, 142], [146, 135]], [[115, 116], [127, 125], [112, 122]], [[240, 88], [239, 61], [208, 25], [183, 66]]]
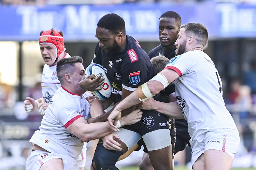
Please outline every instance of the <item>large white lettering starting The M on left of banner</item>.
[[[152, 33], [158, 26], [160, 10], [91, 10], [89, 5], [67, 5], [60, 11], [40, 11], [34, 6], [20, 6], [16, 13], [22, 16], [23, 34], [38, 34], [42, 30], [55, 28], [66, 35], [95, 34], [99, 19], [105, 14], [116, 13], [126, 23], [126, 32]], [[94, 9], [94, 8], [93, 8]]]

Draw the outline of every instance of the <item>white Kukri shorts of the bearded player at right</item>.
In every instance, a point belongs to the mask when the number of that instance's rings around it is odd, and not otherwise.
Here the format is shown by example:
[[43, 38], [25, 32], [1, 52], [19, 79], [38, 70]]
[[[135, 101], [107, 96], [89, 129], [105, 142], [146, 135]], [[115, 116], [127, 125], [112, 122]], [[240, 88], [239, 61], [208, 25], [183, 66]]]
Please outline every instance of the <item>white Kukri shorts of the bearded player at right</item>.
[[199, 133], [190, 139], [192, 166], [201, 154], [209, 149], [215, 149], [228, 153], [232, 158], [239, 148], [240, 138], [234, 129], [201, 129]]

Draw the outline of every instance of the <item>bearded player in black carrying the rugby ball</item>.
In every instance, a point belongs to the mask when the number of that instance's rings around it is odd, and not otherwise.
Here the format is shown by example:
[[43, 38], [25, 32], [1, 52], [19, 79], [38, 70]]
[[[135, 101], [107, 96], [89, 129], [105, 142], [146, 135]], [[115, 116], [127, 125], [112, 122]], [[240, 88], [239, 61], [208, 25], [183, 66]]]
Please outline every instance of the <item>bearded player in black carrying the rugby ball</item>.
[[[103, 16], [96, 28], [99, 43], [95, 49], [93, 63], [103, 66], [112, 83], [112, 96], [105, 101], [95, 99], [91, 105], [92, 115], [101, 115], [113, 102], [118, 103], [132, 91], [153, 77], [150, 58], [138, 41], [125, 34], [125, 22], [116, 14]], [[122, 115], [130, 113], [136, 106], [128, 108]], [[92, 161], [93, 169], [114, 170], [120, 155], [133, 147], [142, 137], [155, 170], [173, 169], [169, 118], [156, 114], [154, 110], [144, 111], [141, 121], [126, 125], [116, 132], [121, 150], [105, 149], [98, 143]], [[120, 125], [121, 126], [121, 125]]]

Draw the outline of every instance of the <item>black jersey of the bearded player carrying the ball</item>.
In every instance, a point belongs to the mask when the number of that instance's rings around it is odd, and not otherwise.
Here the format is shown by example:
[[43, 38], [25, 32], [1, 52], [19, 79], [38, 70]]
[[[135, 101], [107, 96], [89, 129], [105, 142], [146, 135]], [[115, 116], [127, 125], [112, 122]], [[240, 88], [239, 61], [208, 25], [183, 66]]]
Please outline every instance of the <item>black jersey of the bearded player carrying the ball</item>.
[[[113, 56], [105, 53], [99, 43], [95, 49], [93, 63], [103, 66], [106, 76], [112, 84], [114, 104], [122, 100], [122, 87], [134, 91], [153, 77], [153, 67], [147, 53], [137, 40], [126, 35], [125, 49]], [[112, 56], [110, 56], [112, 55]]]

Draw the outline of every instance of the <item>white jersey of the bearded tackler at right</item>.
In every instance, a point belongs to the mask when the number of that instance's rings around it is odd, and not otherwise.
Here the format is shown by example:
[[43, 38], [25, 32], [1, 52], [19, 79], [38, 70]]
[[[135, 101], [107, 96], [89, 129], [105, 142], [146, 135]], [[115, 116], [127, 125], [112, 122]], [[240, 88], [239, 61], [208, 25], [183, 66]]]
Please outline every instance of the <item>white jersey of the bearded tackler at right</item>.
[[207, 54], [200, 50], [186, 52], [171, 59], [165, 69], [173, 69], [180, 75], [174, 81], [177, 102], [192, 139], [199, 129], [237, 130], [222, 97], [221, 78]]

